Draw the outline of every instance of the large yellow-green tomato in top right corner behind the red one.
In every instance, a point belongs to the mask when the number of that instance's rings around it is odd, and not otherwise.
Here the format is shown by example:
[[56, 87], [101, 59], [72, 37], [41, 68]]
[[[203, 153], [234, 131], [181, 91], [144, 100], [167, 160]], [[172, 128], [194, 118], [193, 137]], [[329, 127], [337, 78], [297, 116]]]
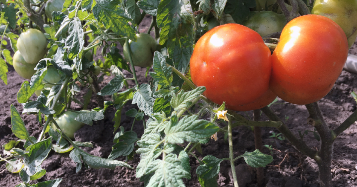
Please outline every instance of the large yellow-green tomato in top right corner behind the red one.
[[357, 37], [357, 1], [356, 0], [315, 0], [311, 14], [330, 18], [345, 32], [348, 47]]

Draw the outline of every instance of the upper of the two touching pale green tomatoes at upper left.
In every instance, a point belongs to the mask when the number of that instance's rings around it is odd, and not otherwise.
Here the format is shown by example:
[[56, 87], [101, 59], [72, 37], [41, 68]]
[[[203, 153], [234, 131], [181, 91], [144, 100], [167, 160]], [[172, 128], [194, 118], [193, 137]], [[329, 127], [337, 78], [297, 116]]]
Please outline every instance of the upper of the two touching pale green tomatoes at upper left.
[[37, 64], [47, 52], [47, 39], [41, 31], [29, 28], [21, 33], [16, 47], [27, 63]]

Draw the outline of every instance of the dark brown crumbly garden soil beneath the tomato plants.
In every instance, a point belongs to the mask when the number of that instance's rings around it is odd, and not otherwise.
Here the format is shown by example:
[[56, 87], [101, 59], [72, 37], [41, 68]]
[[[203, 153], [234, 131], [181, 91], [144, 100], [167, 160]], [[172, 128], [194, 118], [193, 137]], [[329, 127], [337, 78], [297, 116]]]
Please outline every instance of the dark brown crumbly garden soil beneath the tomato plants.
[[[140, 25], [140, 32], [145, 32], [150, 25], [150, 16], [145, 17]], [[152, 33], [153, 34], [153, 33]], [[120, 45], [118, 45], [120, 48]], [[121, 49], [122, 50], [122, 49]], [[351, 48], [350, 53], [357, 54], [356, 43]], [[150, 80], [150, 76], [145, 78], [145, 68], [136, 68], [140, 83]], [[131, 75], [124, 72], [128, 77]], [[10, 104], [13, 104], [21, 113], [23, 108], [16, 100], [16, 94], [25, 79], [21, 78], [14, 71], [12, 66], [9, 66], [8, 85], [0, 83], [0, 145], [4, 145], [10, 140], [17, 140], [11, 131], [10, 121]], [[104, 87], [112, 77], [105, 77], [100, 87]], [[353, 111], [356, 110], [356, 101], [350, 95], [352, 91], [357, 92], [357, 75], [342, 71], [340, 77], [336, 81], [331, 92], [321, 99], [318, 104], [322, 110], [323, 117], [330, 128], [336, 128], [341, 124]], [[134, 82], [130, 82], [131, 86]], [[86, 93], [83, 89], [77, 98], [81, 98]], [[32, 96], [31, 99], [36, 99]], [[105, 97], [110, 100], [110, 97]], [[97, 106], [96, 98], [93, 96], [89, 109]], [[72, 103], [72, 109], [80, 110], [80, 105]], [[134, 108], [130, 103], [126, 104], [122, 110], [121, 125], [125, 131], [130, 130], [133, 119], [125, 116], [125, 111]], [[138, 109], [137, 107], [135, 107]], [[277, 103], [271, 106], [271, 109], [283, 120], [293, 133], [298, 136], [298, 131], [305, 130], [313, 131], [313, 127], [306, 123], [308, 112], [304, 105], [294, 105], [286, 103], [283, 100], [278, 100]], [[104, 120], [95, 121], [92, 126], [84, 126], [75, 134], [76, 141], [89, 141], [94, 147], [86, 148], [85, 150], [92, 155], [107, 158], [111, 152], [113, 145], [113, 125], [112, 119], [115, 114], [115, 109], [110, 107], [107, 110]], [[252, 119], [252, 112], [240, 113], [248, 119]], [[41, 127], [38, 124], [35, 115], [21, 115], [26, 127], [31, 136], [38, 137], [41, 132]], [[262, 114], [262, 120], [267, 120]], [[134, 131], [140, 137], [144, 131], [142, 123], [135, 122]], [[271, 154], [274, 161], [264, 168], [265, 184], [267, 187], [318, 187], [318, 168], [316, 162], [306, 157], [297, 151], [287, 140], [278, 140], [275, 137], [270, 137], [272, 133], [278, 133], [275, 128], [262, 128], [263, 145], [269, 145], [273, 149], [269, 150], [263, 147], [263, 152]], [[315, 139], [313, 133], [308, 133], [304, 136], [305, 142], [310, 147], [319, 147], [320, 142]], [[333, 184], [336, 187], [353, 187], [357, 186], [357, 125], [353, 124], [345, 132], [343, 132], [335, 141], [333, 148], [332, 161], [332, 176]], [[240, 126], [233, 129], [233, 142], [235, 156], [244, 154], [245, 151], [255, 150], [254, 135], [250, 127]], [[22, 146], [20, 145], [20, 148]], [[0, 153], [3, 152], [3, 147], [0, 146]], [[213, 155], [217, 158], [228, 157], [228, 143], [224, 140], [222, 134], [218, 134], [218, 140], [211, 140], [206, 145], [202, 145], [203, 155], [197, 150], [193, 151], [199, 159], [206, 155]], [[184, 183], [188, 187], [199, 187], [197, 180], [196, 168], [199, 163], [194, 157], [190, 157], [192, 179], [184, 179]], [[125, 161], [125, 158], [120, 157], [119, 160]], [[133, 160], [128, 163], [134, 168], [140, 160], [139, 155], [135, 155]], [[240, 187], [257, 187], [255, 177], [255, 169], [247, 167], [243, 159], [235, 162]], [[220, 165], [221, 170], [218, 174], [218, 186], [232, 187], [232, 174], [230, 163], [223, 161]], [[76, 165], [69, 158], [69, 154], [58, 154], [51, 151], [47, 159], [42, 163], [42, 168], [47, 170], [45, 176], [39, 180], [31, 181], [37, 183], [41, 181], [62, 178], [60, 187], [85, 186], [85, 187], [134, 187], [143, 186], [143, 183], [135, 177], [135, 169], [127, 169], [125, 167], [116, 167], [115, 170], [90, 168], [82, 169], [78, 173], [75, 172]], [[84, 168], [84, 167], [83, 167]], [[5, 168], [5, 162], [0, 163], [0, 186], [12, 187], [21, 183], [19, 174], [10, 173]]]

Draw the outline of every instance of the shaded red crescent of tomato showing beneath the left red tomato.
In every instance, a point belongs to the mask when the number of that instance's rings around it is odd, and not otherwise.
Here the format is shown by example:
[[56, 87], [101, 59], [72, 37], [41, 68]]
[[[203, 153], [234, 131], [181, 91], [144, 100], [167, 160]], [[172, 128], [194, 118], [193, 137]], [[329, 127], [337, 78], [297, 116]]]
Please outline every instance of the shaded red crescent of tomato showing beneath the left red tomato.
[[248, 103], [240, 106], [226, 105], [226, 107], [228, 109], [235, 110], [235, 111], [257, 110], [266, 107], [268, 104], [273, 102], [275, 98], [276, 98], [275, 93], [273, 93], [270, 89], [268, 89], [261, 97], [259, 97], [252, 103]]

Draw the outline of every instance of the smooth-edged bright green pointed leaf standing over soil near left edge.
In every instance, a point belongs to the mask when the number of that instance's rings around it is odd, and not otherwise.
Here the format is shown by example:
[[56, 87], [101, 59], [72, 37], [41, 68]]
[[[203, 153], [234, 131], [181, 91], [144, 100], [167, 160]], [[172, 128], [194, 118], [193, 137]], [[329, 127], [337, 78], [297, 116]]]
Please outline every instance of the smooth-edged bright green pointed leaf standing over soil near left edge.
[[30, 135], [29, 135], [29, 131], [27, 131], [26, 127], [25, 127], [25, 123], [22, 120], [20, 113], [16, 110], [16, 108], [14, 107], [14, 105], [10, 105], [10, 109], [11, 109], [11, 125], [12, 125], [12, 133], [15, 134], [16, 137], [18, 137], [19, 139], [29, 139]]

